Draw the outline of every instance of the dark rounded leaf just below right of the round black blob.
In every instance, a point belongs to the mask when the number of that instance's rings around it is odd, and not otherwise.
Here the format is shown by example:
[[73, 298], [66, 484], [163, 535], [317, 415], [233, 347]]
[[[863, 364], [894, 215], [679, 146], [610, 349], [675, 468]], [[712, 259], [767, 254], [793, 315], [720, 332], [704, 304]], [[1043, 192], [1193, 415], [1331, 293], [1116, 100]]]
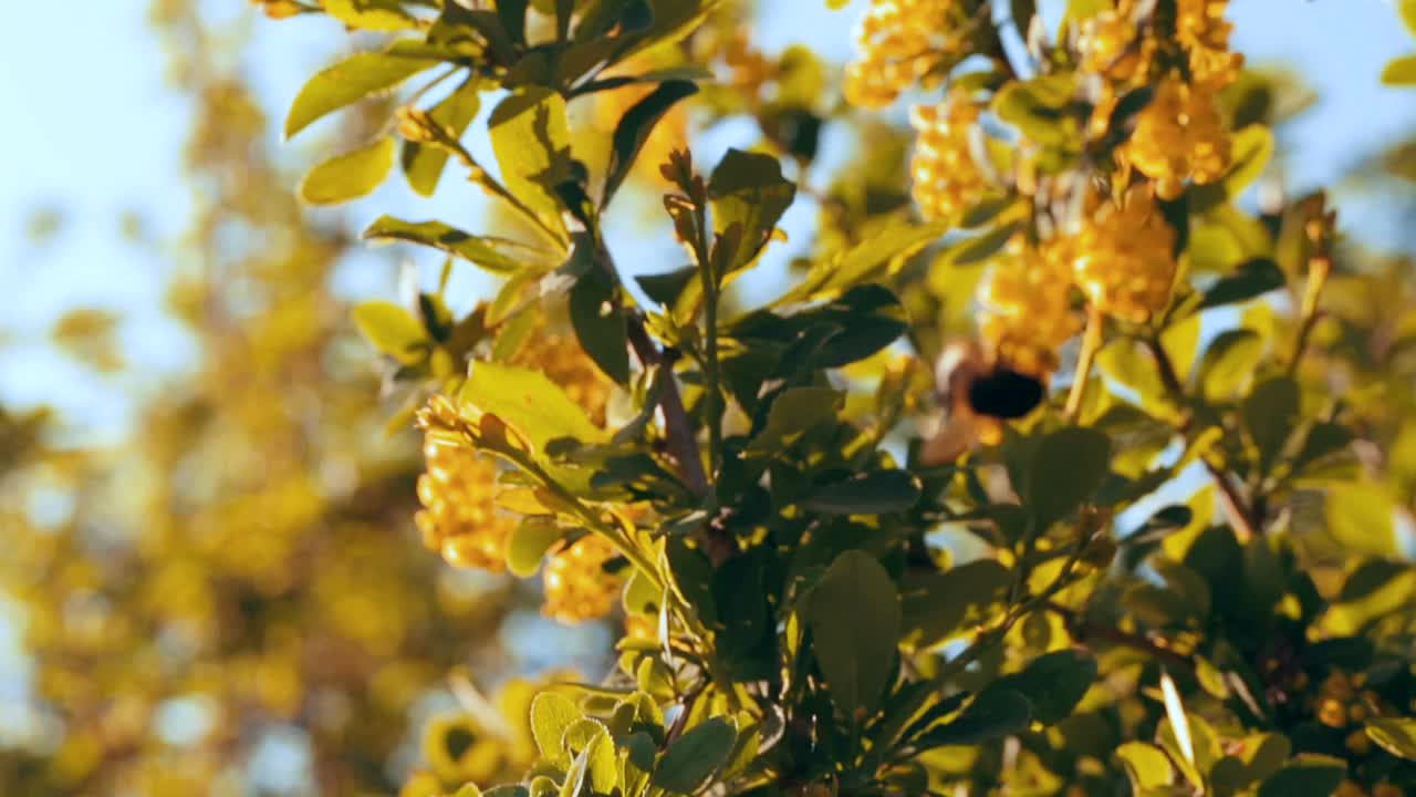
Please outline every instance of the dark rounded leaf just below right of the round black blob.
[[1069, 427], [1044, 437], [1024, 491], [1037, 533], [1090, 499], [1106, 481], [1110, 459], [1112, 440], [1096, 430]]

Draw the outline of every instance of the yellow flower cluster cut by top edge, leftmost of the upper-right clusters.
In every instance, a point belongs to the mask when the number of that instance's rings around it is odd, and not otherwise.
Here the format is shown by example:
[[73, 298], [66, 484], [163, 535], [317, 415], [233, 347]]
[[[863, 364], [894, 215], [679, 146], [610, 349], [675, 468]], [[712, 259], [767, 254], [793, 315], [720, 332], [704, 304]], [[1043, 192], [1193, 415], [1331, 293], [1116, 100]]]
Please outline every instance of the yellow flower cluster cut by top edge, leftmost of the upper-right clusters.
[[845, 101], [884, 108], [949, 54], [954, 0], [872, 0], [845, 67]]

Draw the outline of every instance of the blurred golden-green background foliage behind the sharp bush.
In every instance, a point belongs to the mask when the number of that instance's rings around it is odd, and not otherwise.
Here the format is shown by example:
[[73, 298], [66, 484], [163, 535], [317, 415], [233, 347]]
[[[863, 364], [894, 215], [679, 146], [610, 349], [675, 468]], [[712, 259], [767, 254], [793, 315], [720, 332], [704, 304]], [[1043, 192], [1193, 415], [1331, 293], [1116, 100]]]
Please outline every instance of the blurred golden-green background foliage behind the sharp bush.
[[[187, 228], [154, 233], [136, 213], [116, 220], [127, 241], [170, 264], [164, 312], [194, 366], [152, 376], [125, 345], [118, 311], [78, 303], [55, 315], [50, 339], [57, 356], [122, 377], [96, 384], [139, 397], [122, 433], [93, 444], [84, 418], [35, 401], [0, 406], [0, 627], [14, 648], [3, 659], [0, 793], [387, 794], [415, 766], [445, 780], [515, 771], [531, 756], [515, 719], [530, 682], [518, 678], [600, 671], [613, 634], [558, 630], [539, 620], [535, 584], [447, 567], [418, 543], [418, 440], [385, 431], [396, 408], [378, 400], [387, 374], [371, 367], [346, 292], [331, 289], [351, 264], [364, 274], [355, 279], [398, 272], [404, 252], [351, 252], [341, 216], [295, 201], [307, 150], [275, 152], [278, 123], [251, 77], [259, 13], [208, 6], [156, 0], [150, 10], [173, 91], [191, 109], [180, 152]], [[343, 45], [340, 31], [326, 33], [326, 50]], [[658, 128], [641, 165], [660, 163], [691, 132], [712, 142], [749, 119], [749, 140], [775, 142], [821, 177], [809, 197], [820, 237], [799, 243], [800, 255], [860, 240], [868, 231], [852, 220], [909, 201], [903, 119], [857, 122], [844, 143], [804, 128], [835, 111], [823, 106], [821, 87], [838, 65], [806, 50], [763, 54], [729, 26], [709, 26], [688, 57], [712, 58], [722, 79], [691, 118], [681, 106]], [[1257, 81], [1252, 91], [1233, 94], [1245, 113], [1279, 128], [1266, 189], [1283, 191], [1287, 165], [1306, 157], [1283, 146], [1284, 125], [1321, 96], [1306, 72], [1260, 67], [1245, 78]], [[595, 108], [606, 130], [637, 99], [609, 96], [623, 106]], [[316, 147], [365, 139], [388, 111], [360, 108], [321, 128]], [[830, 150], [820, 159], [818, 146]], [[1412, 508], [1416, 129], [1349, 147], [1338, 170], [1340, 200], [1379, 207], [1374, 227], [1396, 233], [1365, 240], [1355, 220], [1315, 332], [1324, 356], [1303, 376], [1344, 387], [1342, 401], [1372, 427], [1362, 430], [1378, 444], [1371, 457], [1385, 457], [1369, 462], [1382, 489]], [[656, 186], [658, 176], [640, 169], [636, 180]], [[469, 196], [459, 189], [440, 200]], [[619, 234], [653, 224], [651, 208], [644, 197], [624, 203]], [[31, 247], [68, 234], [61, 204], [33, 207], [21, 227]], [[780, 258], [762, 279], [792, 268]], [[405, 279], [418, 282], [412, 271]], [[459, 288], [474, 295], [479, 284]], [[942, 332], [967, 328], [969, 306], [935, 299], [943, 306], [919, 292], [926, 306], [912, 309], [936, 312]], [[0, 323], [0, 347], [18, 338]], [[511, 718], [503, 743], [479, 747], [472, 726], [459, 725], [467, 710]], [[439, 716], [430, 737], [455, 740], [452, 756], [423, 745], [423, 726]]]

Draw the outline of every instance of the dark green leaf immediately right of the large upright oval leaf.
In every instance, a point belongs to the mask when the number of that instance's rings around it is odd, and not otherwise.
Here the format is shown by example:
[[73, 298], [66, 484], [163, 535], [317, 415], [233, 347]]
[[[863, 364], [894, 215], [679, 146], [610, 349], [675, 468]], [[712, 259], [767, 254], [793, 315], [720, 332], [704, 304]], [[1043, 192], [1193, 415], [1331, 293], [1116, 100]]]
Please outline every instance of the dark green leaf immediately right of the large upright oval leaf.
[[980, 559], [909, 579], [902, 598], [905, 637], [929, 648], [977, 628], [1008, 597], [1011, 573], [993, 559]]

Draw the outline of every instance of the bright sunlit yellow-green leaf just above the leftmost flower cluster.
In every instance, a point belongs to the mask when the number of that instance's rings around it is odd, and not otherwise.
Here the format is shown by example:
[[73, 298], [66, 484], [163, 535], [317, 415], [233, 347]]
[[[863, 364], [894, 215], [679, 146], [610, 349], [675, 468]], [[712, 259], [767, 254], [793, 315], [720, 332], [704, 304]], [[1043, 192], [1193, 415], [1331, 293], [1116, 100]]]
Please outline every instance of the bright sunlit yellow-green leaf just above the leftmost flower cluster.
[[609, 441], [609, 433], [590, 423], [585, 410], [538, 370], [474, 363], [462, 387], [462, 400], [501, 418], [537, 452], [545, 451], [552, 440]]

